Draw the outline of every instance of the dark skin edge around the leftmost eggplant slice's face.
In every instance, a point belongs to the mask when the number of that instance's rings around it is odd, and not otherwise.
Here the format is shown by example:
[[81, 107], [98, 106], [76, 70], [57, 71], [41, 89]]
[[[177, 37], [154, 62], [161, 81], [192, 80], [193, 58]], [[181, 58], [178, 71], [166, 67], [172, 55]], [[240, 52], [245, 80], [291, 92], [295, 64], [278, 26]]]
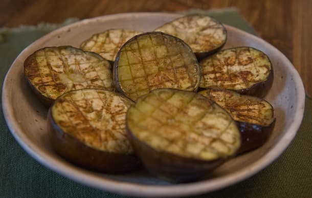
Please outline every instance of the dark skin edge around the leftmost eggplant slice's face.
[[[71, 48], [75, 48], [76, 50], [83, 51], [82, 49], [79, 49], [79, 48], [76, 48], [76, 47], [73, 47], [73, 46], [52, 46], [52, 47], [60, 47], [60, 48], [71, 47]], [[40, 91], [38, 91], [38, 90], [35, 88], [35, 86], [30, 82], [28, 76], [26, 76], [26, 74], [25, 74], [26, 65], [27, 65], [27, 64], [30, 64], [30, 62], [34, 61], [34, 58], [33, 58], [34, 54], [35, 54], [37, 51], [43, 50], [43, 49], [46, 49], [46, 48], [51, 48], [51, 47], [40, 48], [40, 49], [36, 50], [35, 52], [33, 52], [31, 55], [29, 55], [29, 56], [26, 58], [26, 60], [25, 60], [25, 62], [24, 62], [24, 76], [25, 76], [25, 78], [26, 78], [26, 80], [27, 80], [27, 82], [28, 82], [28, 84], [29, 84], [31, 90], [33, 90], [33, 92], [35, 93], [35, 95], [37, 96], [37, 98], [39, 99], [39, 101], [40, 101], [44, 106], [46, 106], [46, 107], [49, 108], [49, 107], [53, 104], [53, 102], [54, 102], [55, 100], [52, 99], [52, 98], [50, 98], [50, 97], [46, 97], [46, 96], [42, 95], [42, 94], [40, 93]], [[91, 52], [91, 51], [83, 51], [83, 52], [92, 53], [92, 54], [94, 54], [95, 56], [98, 56], [98, 57], [102, 58], [103, 60], [107, 61], [107, 62], [109, 63], [109, 65], [110, 65], [110, 67], [111, 67], [110, 70], [112, 71], [112, 65], [113, 65], [112, 62], [106, 60], [105, 58], [103, 58], [102, 56], [100, 56], [99, 54], [97, 54], [97, 53], [95, 53], [95, 52]], [[114, 85], [114, 82], [113, 82], [113, 85]], [[115, 89], [114, 86], [113, 86], [112, 88]], [[71, 91], [74, 91], [74, 90], [71, 90]]]

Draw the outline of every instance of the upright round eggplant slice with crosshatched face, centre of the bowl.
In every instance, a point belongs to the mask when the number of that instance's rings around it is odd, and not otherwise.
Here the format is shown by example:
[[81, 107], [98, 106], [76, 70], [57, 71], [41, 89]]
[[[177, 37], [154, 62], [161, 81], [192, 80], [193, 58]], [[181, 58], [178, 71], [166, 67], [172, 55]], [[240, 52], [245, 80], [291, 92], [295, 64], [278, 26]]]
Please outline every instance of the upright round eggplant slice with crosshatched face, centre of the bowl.
[[197, 90], [200, 68], [194, 53], [180, 38], [148, 32], [131, 38], [120, 49], [113, 77], [116, 88], [136, 101], [159, 88]]

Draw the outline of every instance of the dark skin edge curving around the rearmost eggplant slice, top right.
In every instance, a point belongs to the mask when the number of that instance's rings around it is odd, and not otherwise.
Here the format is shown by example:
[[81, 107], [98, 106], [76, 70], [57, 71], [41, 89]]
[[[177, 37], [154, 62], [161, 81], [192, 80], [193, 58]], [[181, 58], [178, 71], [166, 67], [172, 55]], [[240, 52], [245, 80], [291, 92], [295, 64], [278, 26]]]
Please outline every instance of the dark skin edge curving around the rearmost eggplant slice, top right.
[[[186, 16], [192, 16], [192, 15], [209, 16], [209, 15], [205, 15], [205, 14], [188, 14], [188, 15], [186, 15]], [[179, 17], [179, 18], [183, 18], [183, 17], [186, 17], [186, 16], [182, 16], [182, 17]], [[217, 19], [215, 19], [214, 17], [212, 17], [212, 16], [209, 16], [209, 17], [210, 17], [213, 21], [215, 21], [216, 23], [220, 24], [220, 25], [223, 27], [223, 30], [224, 30], [225, 33], [226, 33], [226, 39], [224, 40], [224, 42], [223, 42], [220, 46], [218, 46], [218, 47], [216, 47], [216, 48], [214, 48], [214, 49], [212, 49], [212, 50], [210, 50], [210, 51], [207, 51], [207, 52], [194, 52], [194, 54], [195, 54], [195, 56], [196, 56], [198, 62], [201, 61], [203, 58], [205, 58], [205, 57], [207, 57], [207, 56], [209, 56], [209, 55], [212, 55], [212, 54], [216, 53], [217, 51], [219, 51], [220, 49], [222, 49], [222, 47], [224, 47], [224, 45], [227, 43], [227, 40], [228, 40], [228, 31], [227, 31], [227, 29], [225, 28], [225, 26], [224, 26], [221, 22], [219, 22]], [[175, 20], [177, 20], [177, 19], [179, 19], [179, 18], [176, 18], [176, 19], [174, 19], [173, 21], [175, 21]], [[163, 24], [162, 26], [167, 25], [167, 24], [170, 24], [170, 23], [172, 23], [173, 21], [170, 21], [170, 22], [168, 22], [168, 23], [165, 23], [165, 24]], [[160, 26], [160, 27], [162, 27], [162, 26]], [[158, 27], [158, 28], [160, 28], [160, 27]], [[158, 28], [156, 28], [155, 30], [157, 30]]]

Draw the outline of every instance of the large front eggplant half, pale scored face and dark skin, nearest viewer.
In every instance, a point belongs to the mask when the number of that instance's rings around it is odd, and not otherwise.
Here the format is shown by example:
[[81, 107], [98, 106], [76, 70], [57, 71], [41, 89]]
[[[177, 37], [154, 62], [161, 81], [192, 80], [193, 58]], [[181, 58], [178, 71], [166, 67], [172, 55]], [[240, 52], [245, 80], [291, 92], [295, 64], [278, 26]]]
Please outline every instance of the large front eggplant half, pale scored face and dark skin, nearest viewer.
[[191, 91], [157, 89], [141, 96], [128, 109], [126, 124], [145, 167], [171, 182], [200, 179], [240, 147], [231, 116]]

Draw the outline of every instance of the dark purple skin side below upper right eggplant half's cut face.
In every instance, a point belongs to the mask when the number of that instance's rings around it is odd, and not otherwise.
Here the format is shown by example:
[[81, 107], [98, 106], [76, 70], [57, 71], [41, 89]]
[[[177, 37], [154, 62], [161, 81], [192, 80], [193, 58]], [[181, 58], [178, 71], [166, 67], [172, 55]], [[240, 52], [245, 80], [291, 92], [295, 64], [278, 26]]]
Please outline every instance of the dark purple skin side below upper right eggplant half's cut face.
[[240, 89], [240, 90], [233, 90], [233, 91], [236, 91], [237, 93], [243, 94], [243, 95], [252, 95], [255, 97], [263, 98], [270, 91], [273, 85], [273, 80], [274, 80], [274, 74], [273, 74], [273, 68], [271, 68], [271, 72], [268, 78], [266, 78], [266, 81], [257, 83], [247, 89]]

